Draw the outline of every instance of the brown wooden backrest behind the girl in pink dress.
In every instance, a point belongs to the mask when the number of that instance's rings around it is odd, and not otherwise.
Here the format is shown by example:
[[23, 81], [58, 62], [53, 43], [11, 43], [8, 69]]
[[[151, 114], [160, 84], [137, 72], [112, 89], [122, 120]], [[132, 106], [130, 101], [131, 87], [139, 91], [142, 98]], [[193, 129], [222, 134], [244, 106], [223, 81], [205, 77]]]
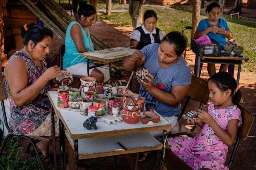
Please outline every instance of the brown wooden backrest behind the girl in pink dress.
[[240, 104], [238, 105], [238, 108], [242, 113], [242, 125], [238, 128], [237, 135], [245, 141], [251, 130], [255, 116], [251, 111]]

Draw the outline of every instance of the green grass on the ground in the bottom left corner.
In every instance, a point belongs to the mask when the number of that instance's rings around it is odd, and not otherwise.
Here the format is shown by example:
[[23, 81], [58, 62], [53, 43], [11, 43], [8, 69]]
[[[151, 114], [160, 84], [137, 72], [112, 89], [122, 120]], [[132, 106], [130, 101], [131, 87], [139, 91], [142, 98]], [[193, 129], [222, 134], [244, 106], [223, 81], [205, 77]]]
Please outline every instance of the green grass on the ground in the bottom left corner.
[[0, 158], [0, 170], [40, 170], [36, 157], [20, 159], [24, 154], [20, 153], [23, 148], [18, 146], [18, 141], [20, 141], [19, 138], [11, 137], [8, 139], [6, 151]]

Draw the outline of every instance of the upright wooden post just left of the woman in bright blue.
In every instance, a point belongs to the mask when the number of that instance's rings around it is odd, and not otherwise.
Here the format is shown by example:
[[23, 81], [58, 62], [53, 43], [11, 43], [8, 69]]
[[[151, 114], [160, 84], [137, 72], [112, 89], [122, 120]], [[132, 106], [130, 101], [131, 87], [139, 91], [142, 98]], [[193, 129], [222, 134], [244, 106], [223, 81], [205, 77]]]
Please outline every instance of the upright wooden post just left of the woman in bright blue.
[[200, 20], [201, 0], [193, 0], [193, 11], [192, 11], [192, 29], [191, 37], [194, 37], [199, 20]]

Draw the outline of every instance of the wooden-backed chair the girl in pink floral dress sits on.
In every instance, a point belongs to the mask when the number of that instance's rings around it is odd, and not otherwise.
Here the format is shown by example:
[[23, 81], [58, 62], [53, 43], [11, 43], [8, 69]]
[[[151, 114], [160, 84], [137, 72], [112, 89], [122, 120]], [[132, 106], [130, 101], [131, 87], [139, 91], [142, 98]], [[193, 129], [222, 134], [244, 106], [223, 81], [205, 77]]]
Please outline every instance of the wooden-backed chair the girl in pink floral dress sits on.
[[[234, 143], [234, 148], [232, 150], [231, 157], [229, 159], [229, 163], [227, 164], [228, 167], [230, 167], [232, 165], [232, 162], [234, 160], [234, 157], [235, 157], [240, 139], [243, 139], [243, 141], [245, 141], [247, 139], [248, 134], [249, 134], [249, 132], [251, 130], [251, 127], [253, 125], [254, 118], [255, 118], [253, 113], [251, 111], [249, 111], [247, 108], [245, 108], [244, 106], [242, 106], [240, 104], [237, 105], [237, 106], [241, 110], [242, 125], [238, 128], [237, 138], [236, 138], [236, 141]], [[164, 162], [165, 165], [168, 165], [168, 164], [170, 165], [170, 163], [173, 162], [172, 156], [168, 156], [170, 153], [171, 153], [171, 150], [169, 150], [169, 149], [166, 150], [166, 158], [169, 159], [169, 160], [165, 159], [165, 162]], [[182, 169], [187, 169], [187, 168], [184, 168], [183, 166], [184, 165], [182, 165]]]

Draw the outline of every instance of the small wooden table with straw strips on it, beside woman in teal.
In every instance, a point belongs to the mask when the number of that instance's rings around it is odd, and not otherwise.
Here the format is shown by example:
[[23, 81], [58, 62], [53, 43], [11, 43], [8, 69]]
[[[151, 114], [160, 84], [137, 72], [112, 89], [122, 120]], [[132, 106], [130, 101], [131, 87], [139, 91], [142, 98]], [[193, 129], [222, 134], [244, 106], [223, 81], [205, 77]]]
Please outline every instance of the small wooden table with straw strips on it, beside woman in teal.
[[[127, 50], [129, 52], [137, 51], [137, 49], [124, 48], [124, 47], [116, 47], [116, 48], [109, 48], [109, 49], [125, 49], [125, 50]], [[112, 62], [116, 62], [116, 61], [124, 60], [126, 57], [131, 56], [131, 54], [129, 54], [129, 55], [113, 56], [113, 57], [104, 57], [103, 54], [100, 54], [100, 52], [104, 52], [104, 51], [107, 52], [107, 50], [109, 50], [109, 49], [103, 49], [103, 50], [95, 51], [96, 53], [93, 53], [93, 52], [83, 53], [81, 55], [88, 59], [87, 60], [87, 75], [89, 75], [89, 70], [90, 69], [103, 66], [103, 64], [97, 64], [97, 65], [94, 65], [94, 66], [90, 66], [90, 60], [95, 60], [95, 61], [100, 61], [100, 62], [108, 63], [108, 67], [109, 67], [109, 81], [110, 81], [110, 84], [111, 84], [112, 83], [112, 73], [113, 72], [123, 71], [123, 69], [119, 69], [119, 70], [116, 70], [116, 71], [112, 72], [112, 65], [111, 65], [111, 63]], [[109, 52], [109, 54], [111, 54], [111, 52]], [[120, 77], [119, 77], [119, 79], [120, 79]]]

